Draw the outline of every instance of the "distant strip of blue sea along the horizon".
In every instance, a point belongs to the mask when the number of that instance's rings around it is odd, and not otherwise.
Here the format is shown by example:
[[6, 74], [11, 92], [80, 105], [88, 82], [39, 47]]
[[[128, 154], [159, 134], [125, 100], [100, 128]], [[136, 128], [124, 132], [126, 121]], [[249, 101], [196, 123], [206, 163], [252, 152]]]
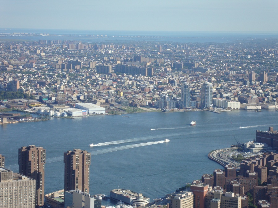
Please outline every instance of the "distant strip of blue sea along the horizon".
[[[36, 35], [13, 35], [35, 33]], [[49, 34], [46, 36], [38, 34]], [[11, 34], [11, 35], [10, 35]], [[95, 35], [95, 36], [93, 36]], [[97, 36], [99, 35], [99, 37]], [[103, 35], [103, 37], [101, 37]], [[106, 35], [106, 37], [105, 37]], [[185, 32], [185, 31], [93, 31], [0, 28], [0, 40], [79, 40], [85, 42], [157, 42], [157, 43], [231, 43], [251, 39], [278, 39], [278, 33]]]

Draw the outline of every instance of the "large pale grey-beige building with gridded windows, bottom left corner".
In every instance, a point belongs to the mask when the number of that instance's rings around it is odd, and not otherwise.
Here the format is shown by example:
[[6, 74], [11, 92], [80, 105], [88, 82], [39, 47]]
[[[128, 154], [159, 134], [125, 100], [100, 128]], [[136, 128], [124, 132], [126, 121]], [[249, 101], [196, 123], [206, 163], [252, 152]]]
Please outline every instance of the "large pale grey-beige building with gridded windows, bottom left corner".
[[36, 207], [36, 180], [0, 168], [0, 207]]

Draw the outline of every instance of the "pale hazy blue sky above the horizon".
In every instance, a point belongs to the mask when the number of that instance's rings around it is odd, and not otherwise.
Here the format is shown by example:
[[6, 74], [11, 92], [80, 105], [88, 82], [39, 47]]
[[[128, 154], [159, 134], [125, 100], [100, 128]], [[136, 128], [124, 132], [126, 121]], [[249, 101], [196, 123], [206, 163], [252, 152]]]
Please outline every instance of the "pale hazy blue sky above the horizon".
[[278, 0], [0, 0], [0, 5], [0, 28], [278, 31]]

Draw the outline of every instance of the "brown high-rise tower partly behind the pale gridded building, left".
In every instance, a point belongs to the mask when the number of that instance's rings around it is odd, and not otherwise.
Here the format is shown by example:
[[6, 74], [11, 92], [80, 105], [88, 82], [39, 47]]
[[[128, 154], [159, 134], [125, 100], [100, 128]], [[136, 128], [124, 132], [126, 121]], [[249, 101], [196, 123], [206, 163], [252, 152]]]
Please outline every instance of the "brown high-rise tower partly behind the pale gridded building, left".
[[36, 205], [44, 206], [45, 149], [29, 145], [18, 153], [19, 173], [36, 180]]

